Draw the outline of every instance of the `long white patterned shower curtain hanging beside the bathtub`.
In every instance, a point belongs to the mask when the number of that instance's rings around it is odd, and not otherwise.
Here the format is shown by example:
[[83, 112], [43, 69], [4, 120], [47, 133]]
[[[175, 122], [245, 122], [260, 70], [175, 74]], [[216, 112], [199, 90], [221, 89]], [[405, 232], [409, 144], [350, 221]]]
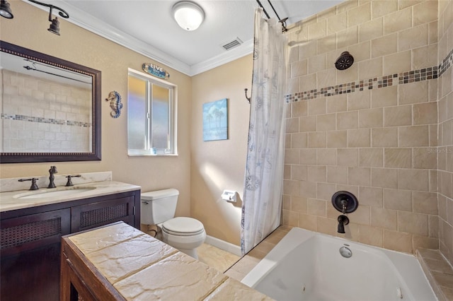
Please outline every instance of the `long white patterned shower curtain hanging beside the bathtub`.
[[241, 220], [246, 254], [280, 225], [285, 153], [287, 39], [280, 23], [255, 13], [253, 81]]

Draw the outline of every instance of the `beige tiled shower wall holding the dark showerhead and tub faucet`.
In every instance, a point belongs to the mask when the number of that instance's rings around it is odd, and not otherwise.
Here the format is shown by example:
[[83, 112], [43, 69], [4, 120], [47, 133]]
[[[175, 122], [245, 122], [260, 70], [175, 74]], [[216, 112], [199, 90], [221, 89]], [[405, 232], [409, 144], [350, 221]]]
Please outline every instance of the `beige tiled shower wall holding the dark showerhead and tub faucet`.
[[[448, 156], [437, 146], [452, 145], [450, 2], [347, 1], [289, 30], [284, 225], [401, 252], [444, 244], [452, 261], [451, 153], [445, 172], [437, 166], [437, 155]], [[355, 61], [338, 71], [344, 51]], [[437, 117], [440, 90], [445, 124]], [[345, 235], [331, 204], [340, 190], [360, 203]]]

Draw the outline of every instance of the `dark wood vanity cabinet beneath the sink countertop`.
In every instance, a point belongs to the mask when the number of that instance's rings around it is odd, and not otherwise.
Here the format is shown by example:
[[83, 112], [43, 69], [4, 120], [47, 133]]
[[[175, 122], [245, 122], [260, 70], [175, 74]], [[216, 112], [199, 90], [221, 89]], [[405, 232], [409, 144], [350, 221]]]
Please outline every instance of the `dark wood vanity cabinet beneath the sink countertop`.
[[117, 221], [140, 228], [140, 190], [1, 212], [0, 299], [59, 300], [62, 235]]

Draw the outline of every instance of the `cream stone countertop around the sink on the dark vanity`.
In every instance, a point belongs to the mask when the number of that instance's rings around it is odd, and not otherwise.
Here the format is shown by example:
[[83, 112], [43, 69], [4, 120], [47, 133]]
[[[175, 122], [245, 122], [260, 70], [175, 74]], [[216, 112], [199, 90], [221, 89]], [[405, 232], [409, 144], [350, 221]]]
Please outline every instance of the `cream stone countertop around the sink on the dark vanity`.
[[[81, 191], [76, 194], [69, 194], [65, 196], [46, 196], [46, 191], [58, 191], [66, 189], [80, 189], [90, 188], [86, 191]], [[132, 184], [126, 184], [115, 181], [101, 181], [74, 184], [71, 187], [59, 186], [51, 189], [38, 189], [38, 190], [16, 190], [6, 191], [0, 193], [0, 212], [11, 211], [16, 209], [30, 208], [35, 206], [48, 205], [52, 203], [62, 203], [65, 201], [74, 201], [78, 199], [87, 199], [96, 196], [104, 196], [108, 194], [117, 194], [120, 192], [134, 191], [141, 187]], [[42, 197], [36, 199], [19, 199], [20, 196], [26, 196], [29, 194], [42, 194]]]

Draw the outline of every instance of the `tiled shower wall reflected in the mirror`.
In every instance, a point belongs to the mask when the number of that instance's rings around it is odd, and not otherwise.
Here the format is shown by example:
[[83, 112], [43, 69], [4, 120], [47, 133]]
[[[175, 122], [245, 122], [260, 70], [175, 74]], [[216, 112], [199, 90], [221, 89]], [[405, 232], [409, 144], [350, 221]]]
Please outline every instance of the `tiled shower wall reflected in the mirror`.
[[1, 70], [1, 151], [91, 151], [91, 90]]

